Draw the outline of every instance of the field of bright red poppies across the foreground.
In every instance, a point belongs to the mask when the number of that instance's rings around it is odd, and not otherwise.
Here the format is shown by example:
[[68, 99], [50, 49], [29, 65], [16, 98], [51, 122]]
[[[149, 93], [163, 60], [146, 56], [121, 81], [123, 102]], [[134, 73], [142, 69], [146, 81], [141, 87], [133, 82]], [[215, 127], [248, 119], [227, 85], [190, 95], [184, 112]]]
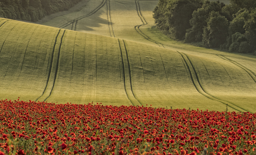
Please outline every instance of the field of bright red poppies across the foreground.
[[0, 101], [0, 154], [255, 154], [256, 114]]

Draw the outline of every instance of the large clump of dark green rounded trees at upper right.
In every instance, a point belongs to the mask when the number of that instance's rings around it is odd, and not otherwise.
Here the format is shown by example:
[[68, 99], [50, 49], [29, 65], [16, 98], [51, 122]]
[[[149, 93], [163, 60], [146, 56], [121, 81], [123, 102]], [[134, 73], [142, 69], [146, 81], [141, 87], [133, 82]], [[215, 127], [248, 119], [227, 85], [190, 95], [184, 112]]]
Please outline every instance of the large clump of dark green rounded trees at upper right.
[[168, 37], [229, 52], [256, 53], [256, 1], [159, 0], [153, 18]]

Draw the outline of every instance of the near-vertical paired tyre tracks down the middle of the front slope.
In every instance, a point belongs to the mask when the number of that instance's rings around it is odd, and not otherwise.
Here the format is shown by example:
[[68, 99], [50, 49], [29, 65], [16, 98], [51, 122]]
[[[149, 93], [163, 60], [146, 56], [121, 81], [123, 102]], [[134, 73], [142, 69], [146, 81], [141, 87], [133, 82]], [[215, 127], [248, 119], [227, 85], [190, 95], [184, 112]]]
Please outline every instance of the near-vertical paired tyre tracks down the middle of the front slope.
[[122, 63], [123, 63], [123, 74], [124, 74], [124, 88], [128, 99], [131, 101], [134, 106], [141, 106], [141, 103], [135, 98], [134, 93], [132, 91], [132, 82], [131, 82], [131, 70], [128, 59], [128, 53], [126, 50], [126, 46], [124, 40], [118, 39], [119, 47], [121, 50]]

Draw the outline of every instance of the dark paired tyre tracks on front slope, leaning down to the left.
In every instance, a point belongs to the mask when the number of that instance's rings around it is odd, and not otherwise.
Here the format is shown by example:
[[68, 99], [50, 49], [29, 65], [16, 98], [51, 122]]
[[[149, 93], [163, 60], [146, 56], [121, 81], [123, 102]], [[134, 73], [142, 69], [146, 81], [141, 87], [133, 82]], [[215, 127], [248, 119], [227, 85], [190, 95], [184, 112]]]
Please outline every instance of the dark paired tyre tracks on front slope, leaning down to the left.
[[46, 87], [44, 89], [43, 94], [40, 97], [38, 97], [38, 99], [36, 99], [36, 101], [39, 101], [39, 100], [45, 101], [47, 98], [50, 97], [50, 95], [52, 93], [52, 90], [53, 90], [53, 87], [55, 84], [55, 80], [56, 80], [56, 76], [57, 76], [57, 72], [58, 72], [60, 49], [61, 49], [62, 39], [65, 34], [65, 31], [66, 30], [64, 30], [64, 29], [59, 29], [59, 32], [56, 36]]

